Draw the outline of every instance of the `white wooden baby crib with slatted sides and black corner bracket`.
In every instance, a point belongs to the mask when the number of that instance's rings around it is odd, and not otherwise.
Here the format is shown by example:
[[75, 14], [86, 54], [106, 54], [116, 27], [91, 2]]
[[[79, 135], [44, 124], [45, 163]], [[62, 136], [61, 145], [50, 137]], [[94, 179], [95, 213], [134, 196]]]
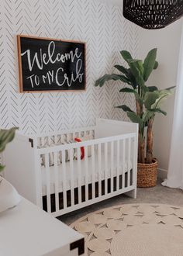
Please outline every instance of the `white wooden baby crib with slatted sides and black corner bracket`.
[[[90, 140], [63, 144], [86, 134]], [[26, 136], [18, 132], [5, 150], [5, 178], [53, 216], [121, 193], [136, 198], [137, 140], [136, 123], [109, 119], [60, 133]], [[85, 150], [82, 160], [81, 147]]]

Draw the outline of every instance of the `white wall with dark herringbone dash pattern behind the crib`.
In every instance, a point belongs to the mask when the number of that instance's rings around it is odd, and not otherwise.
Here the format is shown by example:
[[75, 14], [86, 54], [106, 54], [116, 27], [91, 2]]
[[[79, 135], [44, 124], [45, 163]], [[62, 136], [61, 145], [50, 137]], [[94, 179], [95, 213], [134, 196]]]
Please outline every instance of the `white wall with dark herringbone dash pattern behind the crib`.
[[[97, 78], [120, 63], [119, 50], [137, 52], [137, 28], [123, 19], [119, 1], [112, 5], [104, 0], [5, 0], [0, 9], [2, 127], [42, 133], [91, 126], [96, 117], [126, 118], [113, 107], [122, 101], [133, 105], [130, 98], [119, 94], [122, 85], [94, 87]], [[85, 41], [86, 91], [20, 94], [17, 34]]]

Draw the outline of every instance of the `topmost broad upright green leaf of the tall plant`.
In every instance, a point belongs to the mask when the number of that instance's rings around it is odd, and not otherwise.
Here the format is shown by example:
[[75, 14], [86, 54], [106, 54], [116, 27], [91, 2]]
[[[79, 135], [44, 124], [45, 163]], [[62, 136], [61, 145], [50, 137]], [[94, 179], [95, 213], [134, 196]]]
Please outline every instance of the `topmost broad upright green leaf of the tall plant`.
[[154, 67], [156, 67], [156, 57], [157, 57], [157, 48], [154, 48], [150, 50], [150, 52], [147, 54], [147, 57], [145, 58], [143, 62], [143, 79], [144, 81], [147, 81], [149, 78], [151, 72], [154, 70]]

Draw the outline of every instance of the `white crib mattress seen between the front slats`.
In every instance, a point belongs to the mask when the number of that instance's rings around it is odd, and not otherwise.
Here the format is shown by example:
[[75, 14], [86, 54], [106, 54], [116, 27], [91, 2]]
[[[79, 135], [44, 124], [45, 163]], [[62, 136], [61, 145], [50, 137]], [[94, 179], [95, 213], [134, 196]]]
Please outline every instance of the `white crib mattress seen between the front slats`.
[[[101, 162], [101, 179], [104, 180], [105, 178], [112, 178], [116, 177], [117, 175], [117, 158], [114, 156], [113, 161], [113, 174], [111, 175], [111, 156], [108, 155], [108, 170], [105, 170], [105, 161], [104, 161], [104, 154], [102, 154], [102, 162]], [[129, 166], [128, 166], [129, 165]], [[130, 162], [128, 164], [128, 161], [126, 159], [126, 162], [124, 164], [125, 166], [125, 172], [130, 171], [133, 168], [133, 161], [130, 159]], [[74, 169], [74, 188], [78, 187], [78, 161], [73, 161], [73, 169]], [[46, 168], [41, 168], [42, 172], [42, 195], [47, 195], [47, 174], [46, 174]], [[123, 160], [119, 159], [119, 175], [123, 174]], [[98, 154], [95, 154], [95, 168], [93, 170], [92, 163], [91, 163], [91, 157], [88, 157], [88, 183], [91, 183], [92, 180], [95, 180], [95, 182], [98, 182]], [[60, 164], [58, 166], [58, 192], [63, 192], [63, 166]], [[50, 193], [55, 193], [55, 176], [54, 176], [54, 166], [50, 166]], [[86, 171], [85, 171], [85, 159], [81, 160], [81, 185], [86, 184]], [[66, 162], [66, 188], [67, 190], [71, 189], [71, 169], [70, 169], [70, 162]]]

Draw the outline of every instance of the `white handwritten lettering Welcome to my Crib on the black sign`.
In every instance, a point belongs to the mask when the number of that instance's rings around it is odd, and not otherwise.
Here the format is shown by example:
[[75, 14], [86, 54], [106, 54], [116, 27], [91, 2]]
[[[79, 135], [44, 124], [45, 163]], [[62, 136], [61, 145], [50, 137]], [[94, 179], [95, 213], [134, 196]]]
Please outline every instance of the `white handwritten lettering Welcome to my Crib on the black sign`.
[[[74, 50], [71, 50], [69, 53], [57, 55], [55, 53], [55, 43], [51, 41], [47, 47], [47, 53], [43, 53], [42, 49], [40, 49], [39, 53], [35, 53], [33, 55], [33, 59], [31, 60], [31, 52], [30, 50], [26, 50], [25, 52], [21, 53], [21, 56], [26, 55], [29, 71], [33, 71], [34, 65], [40, 70], [43, 71], [43, 68], [49, 64], [60, 63], [63, 64], [66, 61], [71, 61], [71, 63], [75, 63], [75, 71], [71, 72], [68, 75], [67, 71], [64, 70], [63, 67], [58, 67], [57, 70], [50, 70], [47, 71], [46, 74], [31, 74], [28, 79], [31, 83], [32, 88], [35, 86], [39, 86], [41, 83], [56, 83], [58, 86], [67, 85], [71, 87], [71, 85], [78, 81], [81, 83], [84, 79], [84, 73], [81, 73], [82, 70], [82, 59], [81, 59], [81, 52], [79, 52], [78, 48], [76, 47]], [[55, 56], [55, 57], [54, 57]]]

